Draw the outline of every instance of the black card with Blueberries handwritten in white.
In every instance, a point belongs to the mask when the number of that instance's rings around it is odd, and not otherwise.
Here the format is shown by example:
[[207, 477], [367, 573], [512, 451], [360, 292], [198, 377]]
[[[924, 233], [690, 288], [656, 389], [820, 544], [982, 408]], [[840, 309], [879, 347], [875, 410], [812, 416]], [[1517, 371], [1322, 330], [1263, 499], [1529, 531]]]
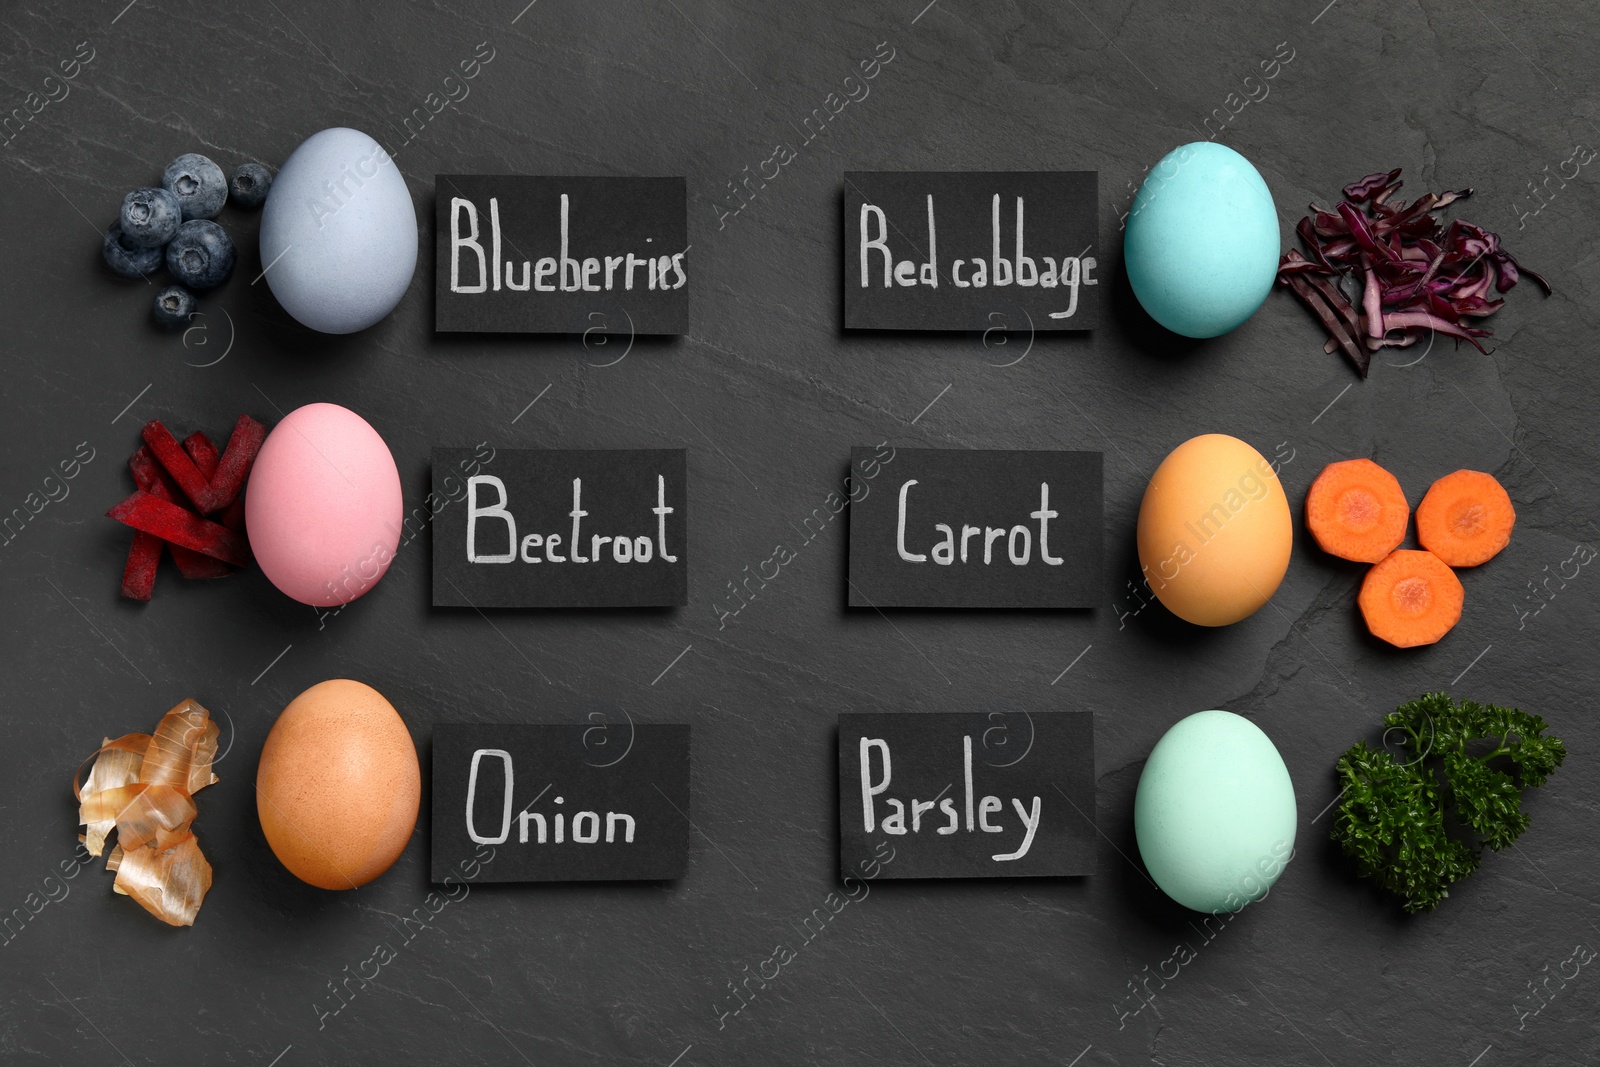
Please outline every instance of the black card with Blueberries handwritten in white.
[[438, 333], [688, 333], [682, 178], [440, 174]]

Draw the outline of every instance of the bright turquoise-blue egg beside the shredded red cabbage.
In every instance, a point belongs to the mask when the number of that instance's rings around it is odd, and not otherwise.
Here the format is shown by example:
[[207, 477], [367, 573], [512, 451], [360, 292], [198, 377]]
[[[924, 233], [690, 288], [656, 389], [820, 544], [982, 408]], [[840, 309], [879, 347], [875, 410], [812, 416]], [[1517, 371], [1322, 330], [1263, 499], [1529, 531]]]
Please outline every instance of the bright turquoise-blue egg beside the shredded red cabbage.
[[1150, 168], [1123, 235], [1128, 282], [1150, 318], [1214, 338], [1250, 318], [1278, 270], [1278, 211], [1250, 160], [1213, 141]]

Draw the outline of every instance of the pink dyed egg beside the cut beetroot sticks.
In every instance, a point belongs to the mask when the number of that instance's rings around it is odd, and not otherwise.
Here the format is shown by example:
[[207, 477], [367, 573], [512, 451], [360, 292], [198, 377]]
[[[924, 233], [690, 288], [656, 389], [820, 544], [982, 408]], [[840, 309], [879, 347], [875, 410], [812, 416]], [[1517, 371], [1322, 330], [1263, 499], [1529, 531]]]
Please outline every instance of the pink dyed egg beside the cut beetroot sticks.
[[403, 512], [395, 458], [366, 419], [336, 403], [283, 416], [245, 491], [256, 563], [285, 595], [331, 608], [384, 576]]

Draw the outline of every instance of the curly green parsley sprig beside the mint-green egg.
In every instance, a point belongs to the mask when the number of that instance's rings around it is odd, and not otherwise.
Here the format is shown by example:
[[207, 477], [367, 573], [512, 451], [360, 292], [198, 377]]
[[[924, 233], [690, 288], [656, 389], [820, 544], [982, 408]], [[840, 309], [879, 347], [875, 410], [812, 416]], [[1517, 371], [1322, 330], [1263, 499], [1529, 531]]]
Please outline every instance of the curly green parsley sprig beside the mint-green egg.
[[1499, 851], [1528, 829], [1522, 790], [1542, 785], [1566, 745], [1538, 715], [1443, 693], [1402, 704], [1384, 726], [1402, 758], [1365, 741], [1339, 757], [1333, 840], [1406, 912], [1430, 912], [1485, 846]]

